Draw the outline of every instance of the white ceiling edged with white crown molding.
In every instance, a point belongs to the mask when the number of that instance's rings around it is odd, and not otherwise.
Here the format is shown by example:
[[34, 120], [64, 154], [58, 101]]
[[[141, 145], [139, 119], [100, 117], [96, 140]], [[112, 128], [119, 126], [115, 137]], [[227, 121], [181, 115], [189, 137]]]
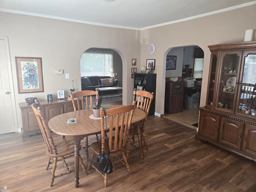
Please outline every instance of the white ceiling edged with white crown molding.
[[0, 11], [144, 30], [252, 4], [256, 0], [0, 0]]

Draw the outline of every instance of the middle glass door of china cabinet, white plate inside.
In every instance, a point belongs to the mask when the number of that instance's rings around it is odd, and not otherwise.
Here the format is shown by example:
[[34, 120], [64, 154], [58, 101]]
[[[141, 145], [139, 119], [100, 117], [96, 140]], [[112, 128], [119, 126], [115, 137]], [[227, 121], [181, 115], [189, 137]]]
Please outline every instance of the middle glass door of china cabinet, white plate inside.
[[240, 63], [240, 51], [223, 51], [221, 54], [221, 70], [219, 73], [216, 108], [233, 112], [236, 106], [236, 87]]

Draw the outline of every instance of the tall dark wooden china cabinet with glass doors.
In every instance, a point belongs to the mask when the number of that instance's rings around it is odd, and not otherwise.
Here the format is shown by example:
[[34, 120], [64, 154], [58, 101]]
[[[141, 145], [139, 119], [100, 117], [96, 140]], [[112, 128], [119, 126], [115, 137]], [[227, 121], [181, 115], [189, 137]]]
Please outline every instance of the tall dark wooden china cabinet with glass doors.
[[206, 106], [195, 138], [256, 162], [256, 42], [208, 47]]

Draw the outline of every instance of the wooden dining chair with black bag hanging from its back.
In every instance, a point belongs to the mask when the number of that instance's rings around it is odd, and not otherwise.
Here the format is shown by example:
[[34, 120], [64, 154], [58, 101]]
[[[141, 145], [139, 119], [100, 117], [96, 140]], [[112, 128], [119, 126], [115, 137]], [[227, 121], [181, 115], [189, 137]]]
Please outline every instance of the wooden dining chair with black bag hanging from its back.
[[[92, 155], [90, 158], [90, 162], [88, 165], [88, 170], [90, 166], [92, 166], [97, 172], [99, 172], [102, 176], [104, 176], [104, 184], [105, 187], [108, 185], [108, 174], [102, 173], [98, 170], [97, 165], [92, 164], [92, 160], [94, 158], [94, 154], [99, 155], [100, 145], [102, 148], [101, 154], [108, 154], [108, 146], [110, 149], [110, 157], [116, 157], [115, 162], [112, 160], [112, 164], [116, 162], [122, 162], [131, 173], [130, 166], [127, 162], [127, 158], [125, 155], [126, 144], [127, 144], [127, 133], [130, 129], [132, 116], [134, 113], [136, 106], [135, 105], [127, 105], [120, 106], [112, 109], [106, 110], [107, 118], [104, 118], [104, 108], [100, 108], [100, 117], [101, 117], [101, 142], [94, 142], [91, 144]], [[106, 127], [105, 121], [108, 123], [108, 142], [106, 142]], [[118, 123], [119, 122], [119, 123]], [[102, 144], [101, 144], [102, 143]], [[122, 155], [122, 157], [121, 157]]]

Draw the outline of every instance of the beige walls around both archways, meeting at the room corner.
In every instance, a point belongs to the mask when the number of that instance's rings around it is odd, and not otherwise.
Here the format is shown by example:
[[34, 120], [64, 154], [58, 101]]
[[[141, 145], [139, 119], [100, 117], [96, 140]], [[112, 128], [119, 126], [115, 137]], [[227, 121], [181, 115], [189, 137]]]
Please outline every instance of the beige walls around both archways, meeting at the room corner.
[[[170, 49], [198, 45], [204, 50], [200, 102], [200, 106], [204, 106], [210, 61], [207, 46], [224, 42], [242, 42], [245, 30], [256, 28], [255, 20], [256, 5], [144, 31], [0, 12], [0, 36], [9, 38], [18, 126], [22, 127], [18, 103], [24, 102], [25, 94], [18, 94], [15, 56], [42, 58], [44, 92], [33, 93], [30, 96], [45, 100], [48, 93], [52, 93], [56, 98], [57, 90], [65, 90], [65, 96], [68, 96], [68, 90], [72, 86], [71, 80], [74, 80], [75, 89], [80, 90], [80, 57], [85, 50], [91, 47], [112, 48], [122, 58], [124, 104], [130, 104], [132, 100], [132, 58], [137, 59], [137, 68], [146, 65], [146, 59], [156, 59], [155, 112], [160, 115], [164, 114], [165, 60]], [[147, 51], [150, 43], [156, 46], [156, 52], [152, 55]], [[64, 74], [54, 74], [55, 69], [63, 69]], [[65, 73], [70, 74], [70, 79], [65, 78]]]

